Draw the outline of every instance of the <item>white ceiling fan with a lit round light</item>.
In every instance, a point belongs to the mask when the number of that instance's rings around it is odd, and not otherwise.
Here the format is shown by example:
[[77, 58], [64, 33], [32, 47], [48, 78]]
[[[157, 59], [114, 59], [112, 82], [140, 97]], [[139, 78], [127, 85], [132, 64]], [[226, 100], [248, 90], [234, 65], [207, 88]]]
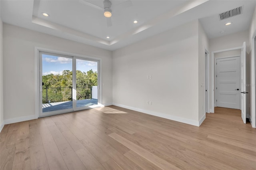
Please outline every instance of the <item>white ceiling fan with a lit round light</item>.
[[116, 8], [116, 9], [124, 9], [124, 8], [128, 8], [130, 6], [132, 6], [132, 1], [131, 0], [126, 0], [116, 6], [112, 6], [112, 3], [110, 0], [104, 0], [103, 1], [103, 8], [98, 6], [98, 5], [95, 5], [95, 4], [92, 4], [86, 0], [80, 0], [80, 2], [82, 2], [83, 4], [86, 4], [88, 6], [91, 6], [95, 9], [98, 9], [98, 10], [101, 10], [103, 11], [104, 13], [104, 17], [106, 18], [106, 22], [107, 22], [107, 26], [108, 27], [111, 27], [112, 26], [112, 20], [111, 20], [111, 16], [112, 16], [112, 8]]

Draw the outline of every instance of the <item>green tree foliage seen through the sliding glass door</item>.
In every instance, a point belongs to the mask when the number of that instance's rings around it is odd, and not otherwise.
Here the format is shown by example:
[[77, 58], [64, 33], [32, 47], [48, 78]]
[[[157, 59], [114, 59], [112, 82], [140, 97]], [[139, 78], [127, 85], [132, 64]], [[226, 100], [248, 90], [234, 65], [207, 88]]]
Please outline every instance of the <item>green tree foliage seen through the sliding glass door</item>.
[[[70, 101], [72, 99], [72, 71], [64, 70], [62, 75], [48, 74], [42, 76], [43, 103]], [[77, 100], [90, 99], [92, 86], [98, 85], [97, 71], [76, 71]], [[47, 94], [46, 94], [47, 89]]]

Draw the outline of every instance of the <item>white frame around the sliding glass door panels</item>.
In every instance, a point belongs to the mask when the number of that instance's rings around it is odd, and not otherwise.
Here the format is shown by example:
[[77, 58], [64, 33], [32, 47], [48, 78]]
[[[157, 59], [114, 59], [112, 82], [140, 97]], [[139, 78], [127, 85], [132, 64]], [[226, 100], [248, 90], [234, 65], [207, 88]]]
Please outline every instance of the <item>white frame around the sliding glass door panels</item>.
[[[102, 64], [101, 64], [101, 59], [100, 58], [97, 58], [97, 57], [91, 57], [91, 56], [86, 56], [86, 55], [80, 55], [80, 54], [75, 54], [75, 53], [68, 53], [68, 52], [63, 52], [63, 51], [57, 51], [57, 50], [53, 50], [53, 49], [46, 49], [46, 48], [42, 48], [42, 47], [35, 47], [35, 73], [34, 73], [34, 78], [35, 78], [35, 117], [38, 118], [38, 117], [44, 117], [44, 116], [40, 116], [40, 112], [41, 112], [41, 109], [42, 109], [42, 98], [41, 98], [41, 95], [40, 95], [40, 87], [42, 87], [42, 77], [40, 75], [42, 75], [42, 66], [40, 66], [40, 63], [42, 62], [42, 58], [40, 58], [40, 51], [44, 52], [44, 53], [51, 53], [51, 54], [56, 54], [57, 56], [70, 56], [72, 57], [72, 71], [73, 71], [73, 87], [75, 87], [76, 89], [76, 82], [74, 83], [74, 81], [76, 81], [76, 70], [74, 71], [74, 69], [76, 69], [76, 59], [83, 59], [83, 60], [88, 60], [88, 61], [96, 61], [98, 62], [98, 105], [93, 105], [92, 107], [90, 108], [93, 108], [93, 107], [100, 107], [102, 106]], [[70, 58], [69, 57], [69, 58]], [[40, 61], [41, 59], [41, 61]], [[41, 71], [41, 72], [40, 72]], [[74, 78], [75, 77], [75, 78]], [[74, 97], [76, 96], [76, 94], [74, 94], [74, 88], [72, 89], [73, 91], [73, 96], [72, 98], [74, 99]], [[84, 109], [90, 109], [90, 108], [79, 108], [79, 109], [76, 109], [76, 106], [74, 106], [74, 100], [73, 100], [73, 109], [70, 111], [70, 110], [67, 110], [67, 111], [64, 111], [62, 113], [68, 113], [68, 112], [72, 112], [72, 111], [79, 111], [79, 110], [84, 110]], [[62, 114], [60, 113], [60, 114]], [[56, 114], [51, 114], [51, 115], [56, 115]], [[50, 115], [47, 115], [47, 116], [50, 116]]]

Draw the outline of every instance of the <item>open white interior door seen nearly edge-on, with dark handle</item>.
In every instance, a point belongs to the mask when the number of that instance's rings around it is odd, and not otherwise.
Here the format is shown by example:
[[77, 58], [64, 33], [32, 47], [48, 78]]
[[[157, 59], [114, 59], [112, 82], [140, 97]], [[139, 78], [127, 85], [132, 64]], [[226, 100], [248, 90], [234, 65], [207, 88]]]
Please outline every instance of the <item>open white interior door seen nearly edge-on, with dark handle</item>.
[[246, 123], [246, 43], [243, 43], [241, 54], [241, 116]]

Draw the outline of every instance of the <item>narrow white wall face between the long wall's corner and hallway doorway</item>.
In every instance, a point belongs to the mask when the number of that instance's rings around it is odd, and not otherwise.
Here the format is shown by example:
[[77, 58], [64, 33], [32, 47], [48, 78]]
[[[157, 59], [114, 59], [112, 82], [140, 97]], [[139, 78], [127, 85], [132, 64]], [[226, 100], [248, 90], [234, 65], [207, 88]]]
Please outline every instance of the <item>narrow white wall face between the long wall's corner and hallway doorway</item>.
[[[198, 121], [205, 119], [205, 52], [209, 51], [209, 40], [198, 22]], [[210, 59], [210, 57], [209, 57]], [[210, 102], [210, 101], [209, 101]]]

